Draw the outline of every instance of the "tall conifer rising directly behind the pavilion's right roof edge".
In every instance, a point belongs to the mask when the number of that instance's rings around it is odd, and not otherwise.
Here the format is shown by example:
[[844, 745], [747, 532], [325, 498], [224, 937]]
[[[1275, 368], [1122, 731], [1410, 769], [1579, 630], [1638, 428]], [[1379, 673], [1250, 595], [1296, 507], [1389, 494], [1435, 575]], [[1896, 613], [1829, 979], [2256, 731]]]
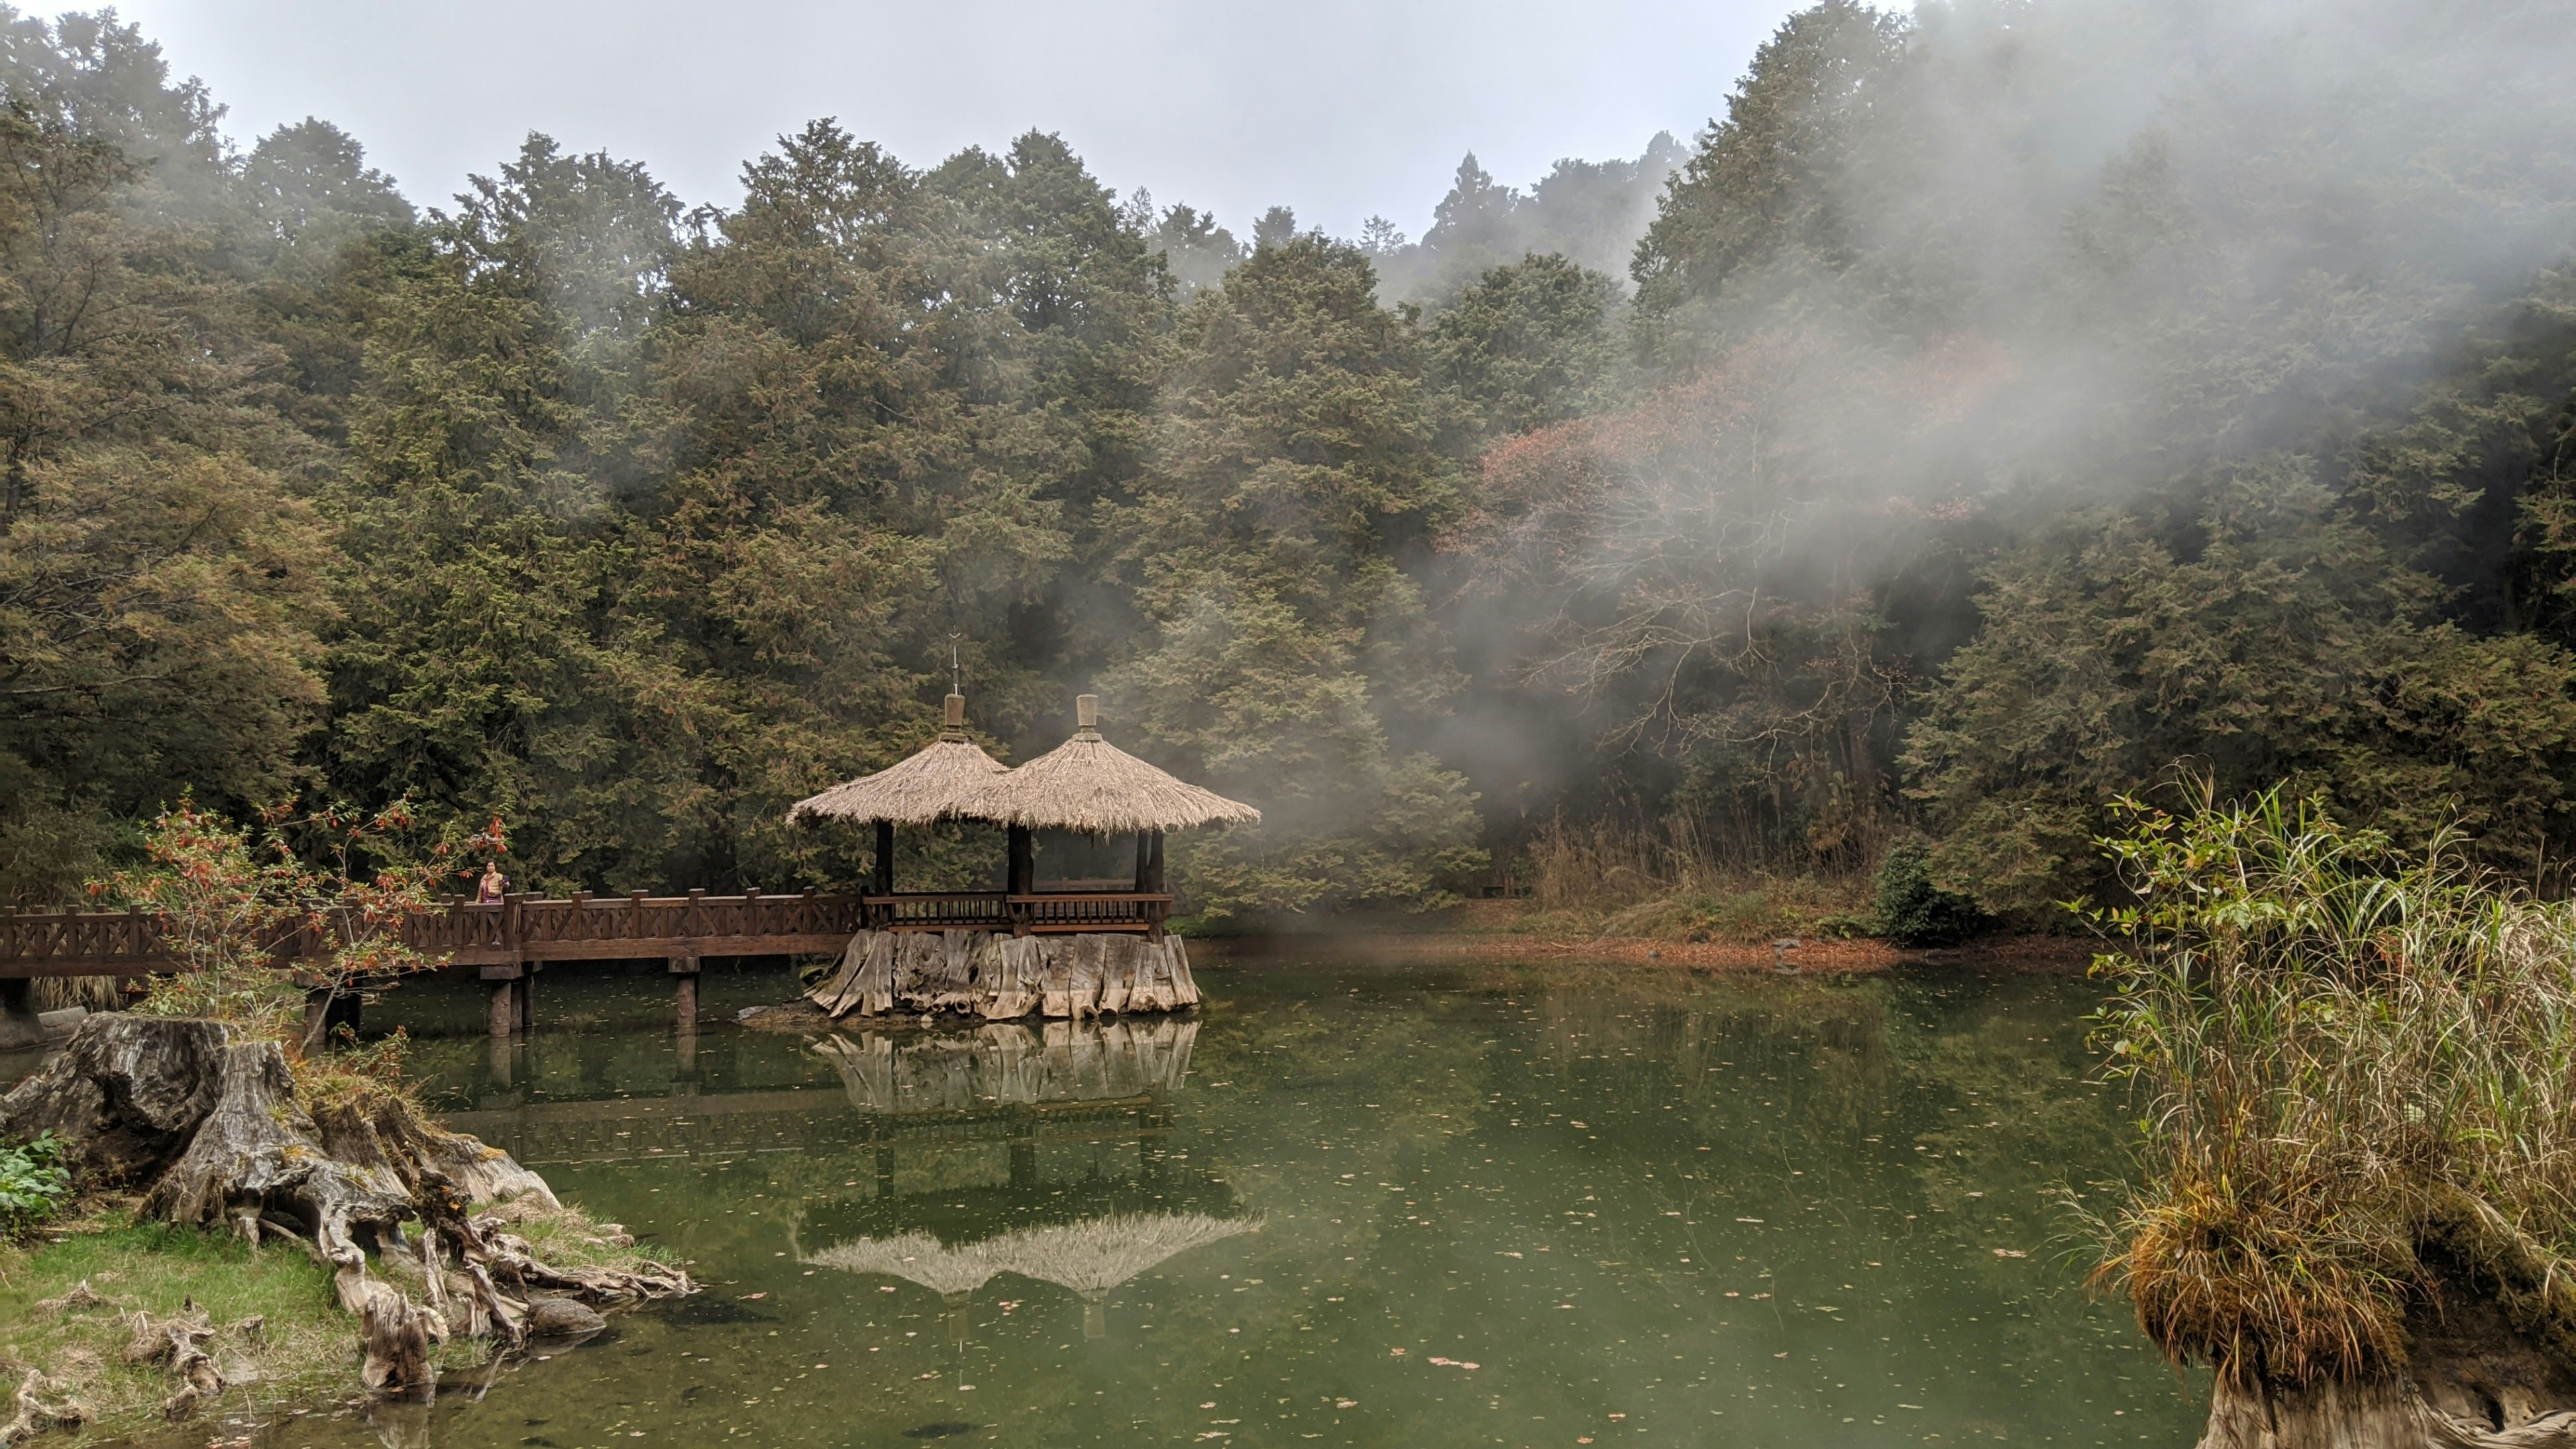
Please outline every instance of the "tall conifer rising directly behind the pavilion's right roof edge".
[[1216, 915], [1440, 900], [1481, 861], [1419, 740], [1455, 676], [1401, 567], [1458, 505], [1419, 340], [1342, 242], [1262, 245], [1180, 320], [1157, 462], [1118, 518], [1151, 624], [1110, 704], [1182, 773], [1262, 804], [1188, 841]]

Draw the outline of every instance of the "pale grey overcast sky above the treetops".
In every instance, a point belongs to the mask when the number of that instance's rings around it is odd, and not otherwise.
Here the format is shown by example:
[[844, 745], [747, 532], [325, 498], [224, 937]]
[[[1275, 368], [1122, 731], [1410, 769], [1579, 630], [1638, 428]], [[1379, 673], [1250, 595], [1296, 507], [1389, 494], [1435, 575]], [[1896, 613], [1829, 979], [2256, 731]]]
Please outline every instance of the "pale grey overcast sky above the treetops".
[[[26, 5], [26, 0], [21, 0]], [[26, 5], [46, 13], [49, 5]], [[64, 5], [70, 8], [70, 5]], [[641, 160], [685, 201], [814, 116], [912, 165], [1061, 131], [1121, 193], [1422, 235], [1461, 152], [1525, 186], [1556, 157], [1690, 139], [1785, 0], [124, 0], [252, 142], [322, 116], [420, 204], [531, 129]]]

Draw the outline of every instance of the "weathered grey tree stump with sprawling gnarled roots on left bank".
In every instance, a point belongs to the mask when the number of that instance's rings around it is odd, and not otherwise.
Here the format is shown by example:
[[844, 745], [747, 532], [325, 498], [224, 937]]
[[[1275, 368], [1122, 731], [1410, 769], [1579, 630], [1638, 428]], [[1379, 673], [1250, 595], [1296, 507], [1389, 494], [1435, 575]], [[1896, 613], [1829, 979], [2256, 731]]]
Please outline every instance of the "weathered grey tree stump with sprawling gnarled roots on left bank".
[[[93, 1181], [144, 1186], [152, 1217], [229, 1225], [252, 1243], [301, 1243], [332, 1269], [340, 1305], [358, 1318], [368, 1390], [428, 1387], [433, 1348], [456, 1320], [466, 1336], [515, 1346], [536, 1297], [693, 1292], [688, 1274], [659, 1263], [613, 1271], [538, 1261], [523, 1238], [500, 1230], [500, 1217], [474, 1220], [469, 1209], [502, 1199], [562, 1207], [544, 1178], [394, 1096], [307, 1111], [276, 1042], [237, 1039], [216, 1021], [82, 1021], [62, 1057], [0, 1098], [0, 1134], [36, 1132], [70, 1140], [75, 1171]], [[404, 1235], [407, 1222], [422, 1225], [417, 1240]], [[368, 1250], [417, 1276], [428, 1302], [376, 1276]], [[183, 1415], [222, 1392], [222, 1374], [201, 1354], [198, 1336], [211, 1330], [160, 1330], [155, 1361], [180, 1379], [165, 1410]]]

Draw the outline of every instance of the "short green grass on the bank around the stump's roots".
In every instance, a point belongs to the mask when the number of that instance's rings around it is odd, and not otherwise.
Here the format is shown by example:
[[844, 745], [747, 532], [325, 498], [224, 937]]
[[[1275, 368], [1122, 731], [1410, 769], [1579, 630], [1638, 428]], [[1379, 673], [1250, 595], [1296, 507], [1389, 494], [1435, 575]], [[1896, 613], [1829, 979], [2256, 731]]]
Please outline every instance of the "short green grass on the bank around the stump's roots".
[[[618, 1269], [639, 1261], [621, 1232], [577, 1209], [507, 1204], [497, 1212], [551, 1263]], [[374, 1269], [417, 1292], [420, 1269], [410, 1258], [379, 1258]], [[216, 1330], [206, 1354], [227, 1387], [198, 1421], [270, 1418], [358, 1390], [358, 1323], [340, 1310], [330, 1271], [299, 1243], [252, 1248], [229, 1232], [137, 1222], [124, 1199], [90, 1201], [77, 1217], [0, 1248], [5, 1387], [39, 1369], [49, 1382], [44, 1397], [67, 1395], [93, 1415], [49, 1441], [160, 1423], [160, 1403], [175, 1382], [162, 1366], [129, 1359], [137, 1312]], [[438, 1351], [440, 1377], [484, 1361], [489, 1343], [464, 1336]]]

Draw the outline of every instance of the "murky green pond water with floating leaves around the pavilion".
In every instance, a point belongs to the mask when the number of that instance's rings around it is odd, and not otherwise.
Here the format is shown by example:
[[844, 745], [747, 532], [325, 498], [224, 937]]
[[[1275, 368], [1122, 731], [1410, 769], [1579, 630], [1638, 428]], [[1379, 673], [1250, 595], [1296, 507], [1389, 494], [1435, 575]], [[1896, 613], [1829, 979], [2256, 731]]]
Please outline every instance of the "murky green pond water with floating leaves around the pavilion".
[[[1208, 964], [1110, 1029], [752, 1031], [778, 969], [551, 972], [433, 1104], [708, 1289], [250, 1444], [2187, 1444], [2081, 1292], [2123, 1173], [2071, 975]], [[206, 1444], [209, 1426], [185, 1436]], [[227, 1434], [245, 1434], [232, 1428]], [[216, 1436], [224, 1441], [224, 1436]]]

